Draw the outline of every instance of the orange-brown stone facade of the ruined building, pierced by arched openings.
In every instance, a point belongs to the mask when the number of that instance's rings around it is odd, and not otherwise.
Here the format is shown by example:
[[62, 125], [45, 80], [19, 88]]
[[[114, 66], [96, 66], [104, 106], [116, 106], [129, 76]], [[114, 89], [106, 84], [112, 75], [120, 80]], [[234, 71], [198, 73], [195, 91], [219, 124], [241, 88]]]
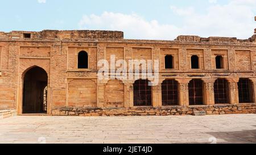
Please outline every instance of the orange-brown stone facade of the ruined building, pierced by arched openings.
[[[24, 38], [23, 33], [31, 33]], [[89, 68], [77, 69], [77, 55], [88, 53]], [[159, 84], [152, 87], [152, 105], [134, 107], [135, 79], [97, 79], [98, 60], [159, 60]], [[164, 56], [174, 57], [174, 69], [164, 68]], [[199, 56], [200, 69], [191, 69], [191, 56]], [[224, 69], [216, 69], [215, 56], [224, 56]], [[194, 110], [207, 114], [255, 113], [256, 43], [229, 37], [179, 36], [176, 40], [126, 40], [119, 31], [42, 31], [0, 32], [0, 109], [22, 114], [23, 77], [34, 66], [48, 75], [47, 114], [49, 115], [191, 115]], [[214, 104], [213, 85], [225, 78], [229, 100]], [[251, 82], [253, 103], [239, 103], [239, 78]], [[178, 82], [179, 104], [162, 106], [161, 83]], [[203, 82], [204, 105], [189, 106], [188, 83]]]

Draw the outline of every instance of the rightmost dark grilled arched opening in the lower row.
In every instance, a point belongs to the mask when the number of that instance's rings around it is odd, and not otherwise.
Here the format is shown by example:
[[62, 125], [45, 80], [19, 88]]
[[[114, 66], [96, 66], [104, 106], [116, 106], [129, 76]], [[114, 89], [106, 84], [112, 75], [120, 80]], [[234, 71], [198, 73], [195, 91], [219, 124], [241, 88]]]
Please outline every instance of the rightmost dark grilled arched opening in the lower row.
[[241, 78], [238, 84], [239, 103], [252, 103], [252, 84], [250, 79]]

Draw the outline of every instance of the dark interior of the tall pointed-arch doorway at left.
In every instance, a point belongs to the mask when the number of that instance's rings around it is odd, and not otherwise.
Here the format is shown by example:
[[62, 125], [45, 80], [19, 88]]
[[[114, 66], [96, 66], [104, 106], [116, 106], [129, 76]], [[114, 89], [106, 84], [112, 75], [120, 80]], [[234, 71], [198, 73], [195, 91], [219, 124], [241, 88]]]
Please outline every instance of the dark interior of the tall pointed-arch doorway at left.
[[24, 75], [23, 114], [47, 113], [47, 83], [45, 70], [34, 67]]

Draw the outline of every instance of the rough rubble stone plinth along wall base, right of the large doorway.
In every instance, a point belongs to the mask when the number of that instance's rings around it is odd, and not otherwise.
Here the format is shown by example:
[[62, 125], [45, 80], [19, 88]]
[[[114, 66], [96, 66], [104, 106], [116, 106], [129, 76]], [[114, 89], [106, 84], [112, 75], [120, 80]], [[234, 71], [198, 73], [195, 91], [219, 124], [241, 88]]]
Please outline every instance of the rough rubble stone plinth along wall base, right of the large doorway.
[[52, 110], [56, 116], [167, 116], [193, 115], [205, 111], [207, 115], [256, 114], [256, 104], [221, 104], [203, 106], [133, 107], [133, 108], [85, 108], [60, 107]]

